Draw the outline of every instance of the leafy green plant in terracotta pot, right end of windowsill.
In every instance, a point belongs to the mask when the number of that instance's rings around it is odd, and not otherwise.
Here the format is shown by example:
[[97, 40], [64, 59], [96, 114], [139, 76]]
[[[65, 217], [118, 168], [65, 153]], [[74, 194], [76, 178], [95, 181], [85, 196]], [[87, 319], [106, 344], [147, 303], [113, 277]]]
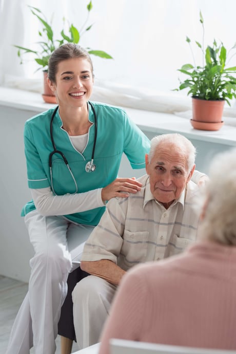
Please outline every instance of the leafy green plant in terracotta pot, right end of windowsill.
[[[185, 64], [180, 72], [186, 74], [186, 80], [181, 81], [179, 88], [189, 88], [188, 95], [192, 97], [191, 124], [196, 129], [218, 130], [223, 125], [222, 115], [225, 101], [230, 106], [229, 100], [236, 98], [236, 66], [226, 67], [226, 61], [231, 52], [231, 58], [235, 55], [236, 44], [227, 53], [223, 43], [217, 44], [214, 40], [212, 46], [204, 49], [204, 21], [200, 11], [200, 22], [203, 29], [203, 43], [195, 41], [202, 51], [202, 65], [196, 65], [191, 48], [191, 41], [187, 37], [186, 42], [190, 46], [193, 56], [193, 65]], [[233, 51], [233, 52], [232, 52]], [[230, 59], [231, 59], [230, 58]]]

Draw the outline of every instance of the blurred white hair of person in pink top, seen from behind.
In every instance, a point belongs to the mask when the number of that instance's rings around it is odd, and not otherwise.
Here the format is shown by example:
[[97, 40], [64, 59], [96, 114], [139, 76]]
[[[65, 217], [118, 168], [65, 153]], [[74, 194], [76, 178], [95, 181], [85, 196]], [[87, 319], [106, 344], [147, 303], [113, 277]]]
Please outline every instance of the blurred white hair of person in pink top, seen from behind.
[[209, 178], [199, 237], [236, 246], [236, 148], [215, 156]]

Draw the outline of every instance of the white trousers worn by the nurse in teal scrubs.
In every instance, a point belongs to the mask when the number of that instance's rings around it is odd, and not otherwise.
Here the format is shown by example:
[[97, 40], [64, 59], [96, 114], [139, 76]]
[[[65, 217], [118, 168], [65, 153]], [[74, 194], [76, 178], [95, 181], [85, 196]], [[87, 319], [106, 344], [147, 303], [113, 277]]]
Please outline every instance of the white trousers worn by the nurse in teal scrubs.
[[[57, 323], [67, 294], [71, 245], [83, 243], [93, 226], [75, 225], [63, 217], [25, 216], [35, 255], [30, 259], [29, 291], [12, 327], [6, 354], [54, 354]], [[80, 251], [79, 251], [80, 252]], [[73, 251], [72, 251], [73, 253]], [[76, 254], [76, 252], [74, 252]]]

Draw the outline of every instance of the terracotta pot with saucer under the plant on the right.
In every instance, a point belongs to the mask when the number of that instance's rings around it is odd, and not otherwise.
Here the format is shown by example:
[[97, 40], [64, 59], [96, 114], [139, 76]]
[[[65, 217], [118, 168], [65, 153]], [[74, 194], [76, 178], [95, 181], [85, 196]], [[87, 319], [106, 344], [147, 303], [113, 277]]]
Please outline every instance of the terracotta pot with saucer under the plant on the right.
[[224, 100], [202, 100], [192, 98], [192, 120], [191, 124], [195, 129], [219, 130], [224, 124], [222, 122]]

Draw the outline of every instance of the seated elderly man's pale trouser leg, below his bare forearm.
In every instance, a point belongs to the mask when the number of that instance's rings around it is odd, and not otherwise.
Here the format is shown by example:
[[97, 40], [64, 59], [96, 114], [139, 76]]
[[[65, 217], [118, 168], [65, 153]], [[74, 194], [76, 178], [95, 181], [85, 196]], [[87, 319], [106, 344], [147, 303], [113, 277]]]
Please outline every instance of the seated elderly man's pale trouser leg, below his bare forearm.
[[79, 349], [99, 342], [117, 286], [99, 276], [89, 275], [73, 292], [73, 317]]

